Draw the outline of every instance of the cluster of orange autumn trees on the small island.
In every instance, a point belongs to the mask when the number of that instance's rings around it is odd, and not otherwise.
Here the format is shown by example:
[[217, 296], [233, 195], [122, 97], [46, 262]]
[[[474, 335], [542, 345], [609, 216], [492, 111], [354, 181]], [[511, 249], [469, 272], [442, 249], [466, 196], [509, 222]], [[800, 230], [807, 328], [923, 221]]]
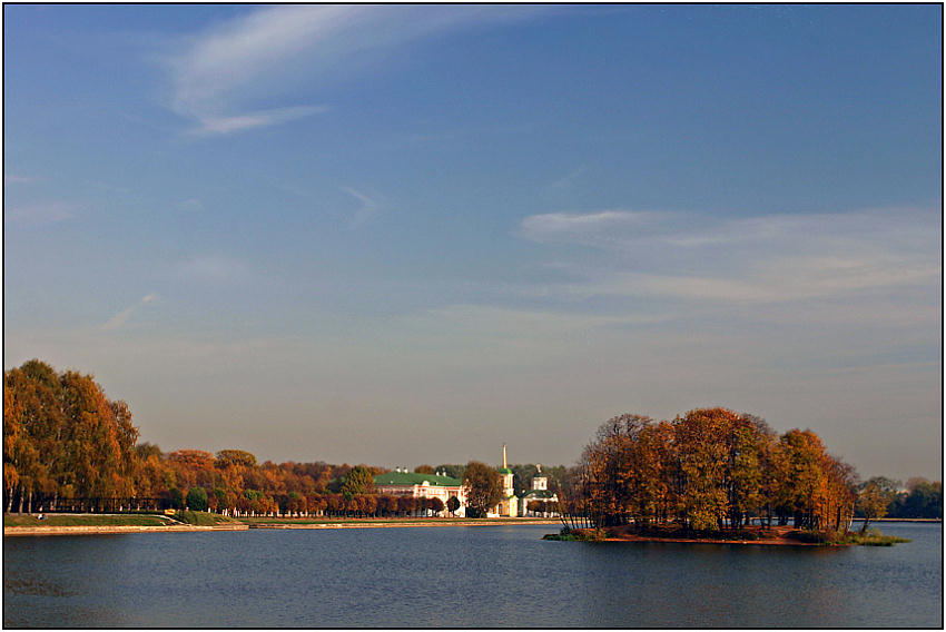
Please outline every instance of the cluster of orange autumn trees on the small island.
[[779, 435], [763, 419], [726, 408], [661, 422], [625, 414], [602, 424], [585, 447], [564, 508], [594, 526], [717, 531], [761, 519], [847, 531], [858, 483], [854, 467], [810, 429]]

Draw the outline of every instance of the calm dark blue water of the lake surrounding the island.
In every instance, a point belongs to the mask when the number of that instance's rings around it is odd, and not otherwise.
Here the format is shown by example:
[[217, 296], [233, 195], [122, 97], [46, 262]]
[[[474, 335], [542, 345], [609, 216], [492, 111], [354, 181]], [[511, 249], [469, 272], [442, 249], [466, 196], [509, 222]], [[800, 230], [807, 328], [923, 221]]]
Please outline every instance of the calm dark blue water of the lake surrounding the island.
[[943, 625], [938, 524], [893, 547], [545, 542], [554, 526], [11, 537], [6, 626]]

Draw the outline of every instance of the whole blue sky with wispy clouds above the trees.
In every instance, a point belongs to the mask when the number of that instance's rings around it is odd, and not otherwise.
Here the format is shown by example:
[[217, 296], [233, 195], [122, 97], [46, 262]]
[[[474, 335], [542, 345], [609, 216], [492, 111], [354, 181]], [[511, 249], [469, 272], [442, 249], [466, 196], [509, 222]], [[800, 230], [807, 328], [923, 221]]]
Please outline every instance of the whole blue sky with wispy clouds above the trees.
[[3, 366], [165, 451], [942, 478], [942, 7], [3, 7]]

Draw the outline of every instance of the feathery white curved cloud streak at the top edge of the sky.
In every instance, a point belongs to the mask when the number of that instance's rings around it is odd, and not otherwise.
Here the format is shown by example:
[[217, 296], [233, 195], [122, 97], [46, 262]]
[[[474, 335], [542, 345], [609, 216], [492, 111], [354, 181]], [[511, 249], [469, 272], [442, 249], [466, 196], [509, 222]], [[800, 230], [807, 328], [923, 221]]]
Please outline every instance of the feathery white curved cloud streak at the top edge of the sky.
[[227, 135], [318, 112], [323, 103], [260, 109], [354, 58], [469, 24], [499, 22], [535, 9], [443, 6], [278, 6], [198, 33], [167, 60], [171, 108], [201, 135]]

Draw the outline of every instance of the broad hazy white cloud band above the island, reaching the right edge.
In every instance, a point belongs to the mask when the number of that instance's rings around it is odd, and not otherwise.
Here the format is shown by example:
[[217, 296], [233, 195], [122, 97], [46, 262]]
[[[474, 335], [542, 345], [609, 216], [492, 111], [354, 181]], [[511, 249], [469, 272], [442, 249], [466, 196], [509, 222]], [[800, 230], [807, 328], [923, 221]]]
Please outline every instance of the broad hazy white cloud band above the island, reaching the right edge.
[[[712, 218], [604, 210], [526, 217], [522, 235], [599, 250], [583, 296], [778, 303], [932, 287], [942, 276], [935, 209]], [[591, 261], [591, 263], [589, 263]]]

